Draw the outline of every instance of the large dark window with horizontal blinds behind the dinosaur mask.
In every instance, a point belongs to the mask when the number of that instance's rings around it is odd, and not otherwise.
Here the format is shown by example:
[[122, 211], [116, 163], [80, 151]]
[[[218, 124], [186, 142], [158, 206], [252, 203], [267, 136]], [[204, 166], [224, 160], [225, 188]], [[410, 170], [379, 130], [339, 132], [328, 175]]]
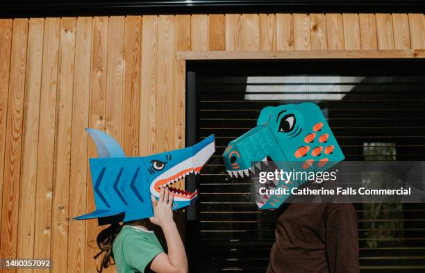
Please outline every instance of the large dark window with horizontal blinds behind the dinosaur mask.
[[[228, 142], [255, 126], [262, 108], [315, 102], [346, 160], [419, 161], [424, 71], [419, 60], [188, 63], [188, 144], [214, 133], [217, 146], [188, 213], [192, 270], [265, 272], [279, 210], [258, 210], [249, 179], [231, 179], [222, 161]], [[362, 272], [425, 271], [424, 204], [355, 206]]]

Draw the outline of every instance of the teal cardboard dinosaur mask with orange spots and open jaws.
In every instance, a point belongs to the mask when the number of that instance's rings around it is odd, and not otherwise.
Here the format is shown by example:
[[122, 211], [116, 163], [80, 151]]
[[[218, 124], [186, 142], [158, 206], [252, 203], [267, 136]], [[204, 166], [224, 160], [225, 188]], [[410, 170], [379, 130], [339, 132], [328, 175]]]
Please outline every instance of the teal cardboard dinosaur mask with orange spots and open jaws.
[[[344, 160], [344, 154], [322, 110], [312, 103], [268, 106], [261, 110], [257, 126], [231, 141], [223, 154], [231, 176], [259, 172], [263, 161], [273, 161], [284, 171], [324, 172]], [[305, 183], [269, 181], [269, 189], [298, 187]], [[278, 208], [290, 195], [262, 195], [261, 209]]]

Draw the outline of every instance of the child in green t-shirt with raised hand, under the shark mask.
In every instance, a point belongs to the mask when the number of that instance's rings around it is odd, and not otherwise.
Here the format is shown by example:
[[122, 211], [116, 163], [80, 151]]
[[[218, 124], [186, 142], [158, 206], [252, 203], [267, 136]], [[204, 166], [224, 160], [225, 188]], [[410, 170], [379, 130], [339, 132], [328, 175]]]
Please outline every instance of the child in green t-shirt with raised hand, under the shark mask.
[[161, 188], [159, 201], [153, 196], [151, 199], [153, 217], [149, 220], [163, 229], [168, 254], [158, 242], [155, 233], [147, 229], [147, 220], [124, 222], [123, 225], [111, 224], [97, 236], [97, 245], [101, 252], [94, 258], [106, 253], [98, 272], [113, 264], [110, 258], [115, 261], [118, 273], [188, 272], [185, 247], [173, 220], [174, 192]]

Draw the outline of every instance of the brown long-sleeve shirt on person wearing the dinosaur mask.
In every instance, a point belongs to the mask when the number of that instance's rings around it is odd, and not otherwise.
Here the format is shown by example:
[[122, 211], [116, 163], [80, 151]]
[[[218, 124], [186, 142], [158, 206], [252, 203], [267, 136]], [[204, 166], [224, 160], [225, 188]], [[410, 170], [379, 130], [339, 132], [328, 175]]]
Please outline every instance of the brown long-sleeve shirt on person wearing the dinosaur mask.
[[290, 204], [279, 217], [267, 273], [358, 273], [352, 204]]

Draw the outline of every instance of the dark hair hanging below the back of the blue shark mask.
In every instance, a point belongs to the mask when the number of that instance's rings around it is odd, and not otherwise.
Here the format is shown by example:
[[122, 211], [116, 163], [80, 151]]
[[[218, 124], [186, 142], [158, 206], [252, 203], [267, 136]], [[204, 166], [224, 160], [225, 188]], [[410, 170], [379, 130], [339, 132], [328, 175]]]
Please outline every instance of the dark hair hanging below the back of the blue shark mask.
[[[108, 268], [109, 265], [115, 265], [113, 256], [113, 243], [119, 231], [122, 229], [122, 224], [110, 224], [106, 229], [103, 229], [97, 235], [96, 242], [100, 251], [93, 258], [97, 259], [101, 254], [105, 253], [101, 258], [101, 264], [96, 269], [97, 272], [102, 272], [103, 268]], [[112, 260], [111, 260], [112, 258]]]

